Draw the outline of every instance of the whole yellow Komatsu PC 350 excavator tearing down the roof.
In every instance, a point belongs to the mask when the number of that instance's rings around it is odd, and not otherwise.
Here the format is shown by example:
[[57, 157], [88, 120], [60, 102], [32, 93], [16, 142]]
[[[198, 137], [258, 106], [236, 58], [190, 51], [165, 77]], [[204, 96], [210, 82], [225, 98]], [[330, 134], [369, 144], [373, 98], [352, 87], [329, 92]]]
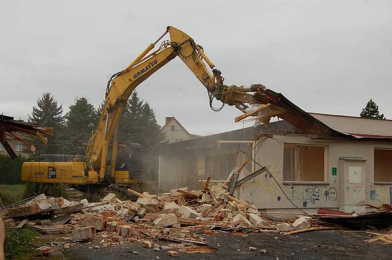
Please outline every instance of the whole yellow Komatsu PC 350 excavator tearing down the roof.
[[[170, 41], [155, 45], [169, 33]], [[210, 107], [214, 98], [224, 104], [244, 111], [247, 104], [255, 101], [252, 94], [261, 85], [249, 87], [223, 84], [221, 71], [205, 55], [186, 33], [168, 26], [165, 33], [148, 47], [125, 69], [115, 73], [107, 83], [105, 104], [97, 130], [88, 142], [86, 156], [66, 157], [56, 161], [59, 155], [40, 162], [25, 162], [22, 166], [23, 182], [67, 183], [71, 185], [121, 184], [132, 185], [141, 181], [140, 145], [117, 141], [117, 126], [132, 91], [155, 71], [178, 56], [207, 89]], [[206, 64], [209, 68], [207, 68]], [[50, 156], [49, 156], [50, 157]]]

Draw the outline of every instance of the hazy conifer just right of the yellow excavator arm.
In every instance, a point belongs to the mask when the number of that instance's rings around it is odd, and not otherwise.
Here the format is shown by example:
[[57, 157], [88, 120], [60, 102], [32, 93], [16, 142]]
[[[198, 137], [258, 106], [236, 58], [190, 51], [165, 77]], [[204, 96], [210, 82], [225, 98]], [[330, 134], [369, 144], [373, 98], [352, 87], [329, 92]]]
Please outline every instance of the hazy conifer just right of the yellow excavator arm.
[[129, 98], [119, 123], [118, 140], [139, 143], [144, 150], [162, 143], [164, 134], [160, 130], [155, 113], [137, 92]]

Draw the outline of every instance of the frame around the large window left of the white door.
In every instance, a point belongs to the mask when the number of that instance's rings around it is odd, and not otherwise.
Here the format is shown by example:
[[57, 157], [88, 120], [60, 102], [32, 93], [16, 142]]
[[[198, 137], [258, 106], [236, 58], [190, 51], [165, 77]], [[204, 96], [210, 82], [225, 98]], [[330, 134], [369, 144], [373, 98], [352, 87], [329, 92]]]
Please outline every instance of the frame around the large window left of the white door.
[[[289, 146], [286, 148], [286, 146]], [[290, 147], [292, 146], [292, 147]], [[284, 185], [312, 185], [312, 184], [317, 184], [317, 185], [329, 185], [327, 182], [328, 179], [328, 145], [321, 145], [321, 144], [295, 144], [295, 143], [284, 143], [283, 145], [283, 153], [282, 153], [282, 159], [284, 156], [284, 149], [294, 149], [295, 150], [295, 164], [298, 159], [298, 146], [316, 146], [316, 147], [323, 147], [324, 148], [324, 174], [323, 174], [323, 180], [322, 181], [293, 181], [293, 180], [284, 180], [283, 177], [283, 160], [282, 160], [282, 182]]]

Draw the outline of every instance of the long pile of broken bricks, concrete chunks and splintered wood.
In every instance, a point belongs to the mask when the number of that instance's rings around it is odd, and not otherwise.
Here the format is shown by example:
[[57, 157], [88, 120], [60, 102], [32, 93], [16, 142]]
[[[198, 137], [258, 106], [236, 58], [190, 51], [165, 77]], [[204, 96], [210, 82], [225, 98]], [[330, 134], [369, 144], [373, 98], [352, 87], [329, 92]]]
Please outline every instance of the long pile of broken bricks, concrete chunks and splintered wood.
[[[139, 242], [155, 251], [166, 250], [172, 257], [178, 256], [178, 252], [206, 246], [204, 236], [217, 232], [286, 232], [289, 235], [312, 229], [312, 218], [307, 216], [287, 221], [293, 222], [290, 224], [262, 217], [252, 202], [231, 196], [227, 184], [210, 186], [208, 178], [203, 190], [188, 191], [182, 187], [159, 195], [128, 189], [138, 197], [136, 201], [122, 201], [113, 193], [98, 203], [41, 194], [25, 204], [7, 208], [2, 218], [10, 228], [26, 225], [43, 234], [66, 234], [66, 237], [61, 235], [65, 240], [60, 244], [63, 248], [80, 242], [98, 241], [98, 247]], [[44, 251], [43, 254], [50, 252], [48, 248]]]

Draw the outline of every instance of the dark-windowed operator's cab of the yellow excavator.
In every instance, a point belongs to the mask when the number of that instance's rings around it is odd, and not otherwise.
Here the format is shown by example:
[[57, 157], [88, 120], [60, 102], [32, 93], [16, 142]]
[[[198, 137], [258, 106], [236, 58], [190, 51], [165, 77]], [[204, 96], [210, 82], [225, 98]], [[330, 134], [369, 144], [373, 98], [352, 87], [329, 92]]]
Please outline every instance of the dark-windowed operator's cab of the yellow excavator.
[[[112, 157], [112, 146], [108, 149], [108, 158]], [[111, 165], [107, 160], [107, 165]], [[143, 173], [142, 146], [134, 142], [119, 141], [114, 178], [116, 183], [135, 183], [141, 179]]]

